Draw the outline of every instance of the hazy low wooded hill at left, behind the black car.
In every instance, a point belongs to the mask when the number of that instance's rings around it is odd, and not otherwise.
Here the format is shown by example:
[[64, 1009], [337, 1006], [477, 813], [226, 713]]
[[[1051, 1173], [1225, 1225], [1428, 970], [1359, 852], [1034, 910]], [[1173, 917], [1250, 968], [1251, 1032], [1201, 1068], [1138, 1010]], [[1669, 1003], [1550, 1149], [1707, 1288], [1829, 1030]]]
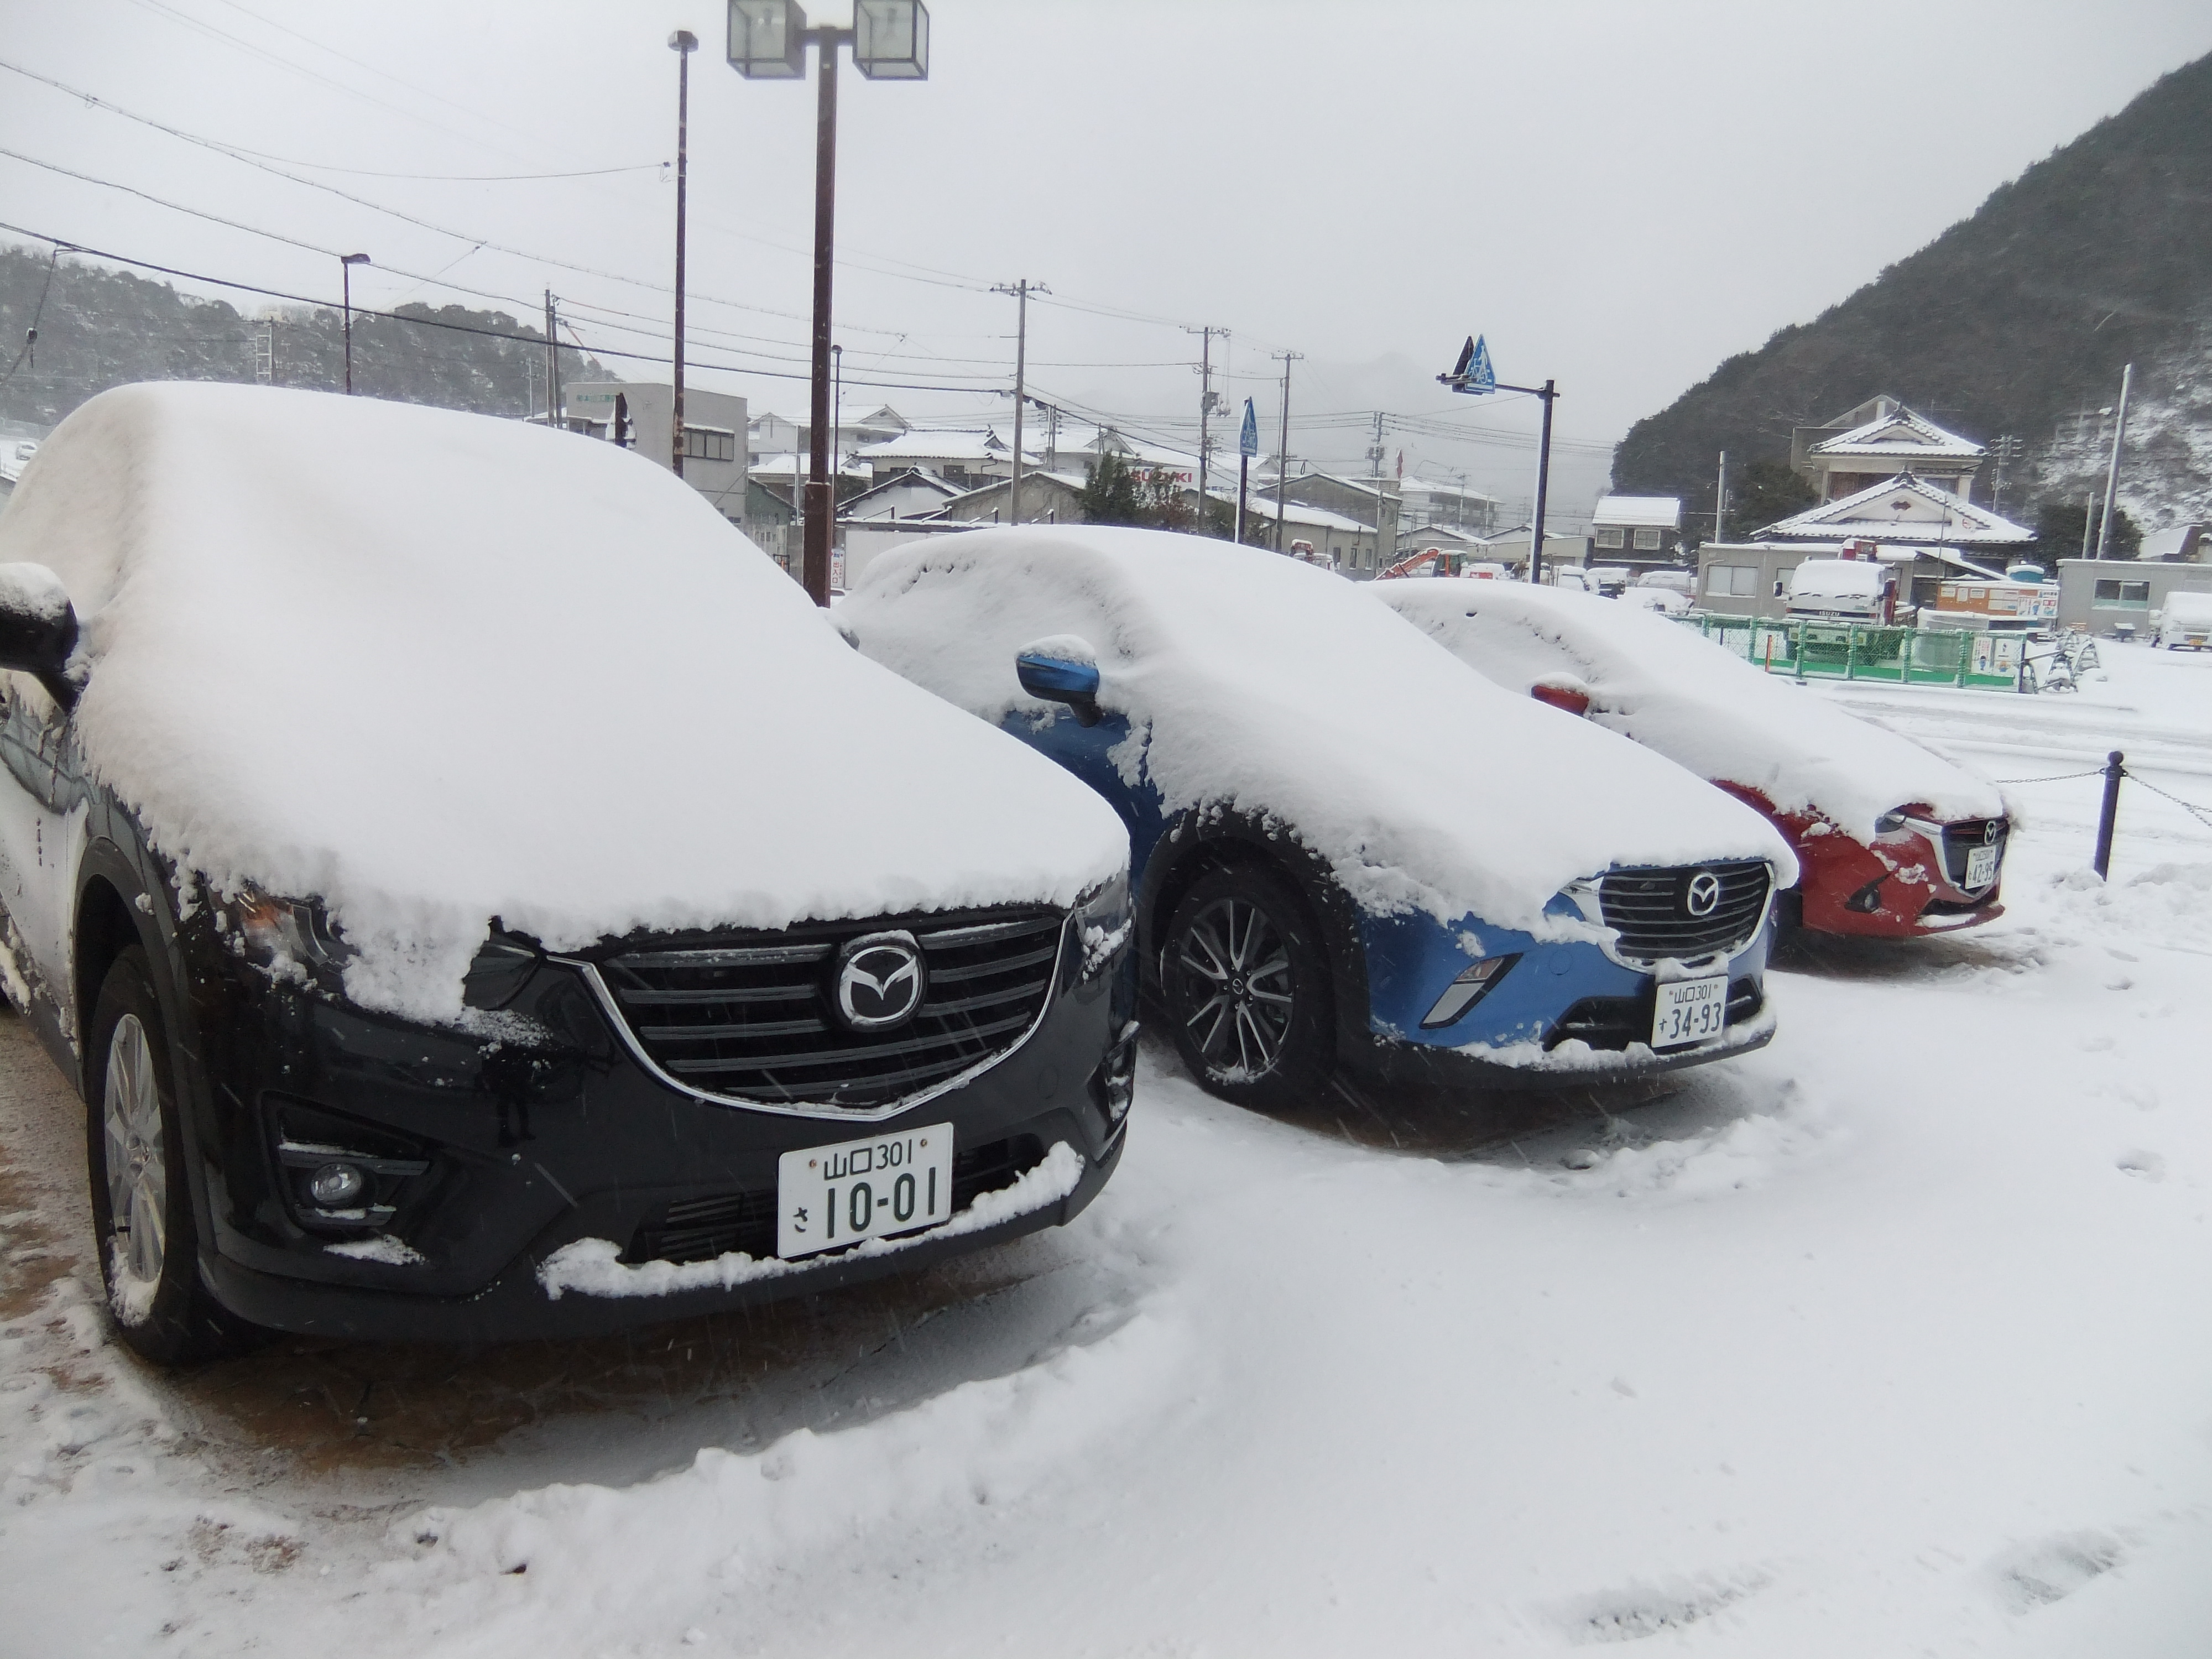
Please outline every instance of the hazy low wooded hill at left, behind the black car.
[[[111, 385], [259, 380], [263, 363], [272, 385], [343, 392], [345, 319], [319, 305], [239, 312], [75, 254], [0, 246], [0, 418], [51, 427]], [[562, 383], [608, 378], [571, 347], [560, 372]], [[524, 416], [544, 409], [544, 332], [504, 312], [354, 312], [363, 396]]]

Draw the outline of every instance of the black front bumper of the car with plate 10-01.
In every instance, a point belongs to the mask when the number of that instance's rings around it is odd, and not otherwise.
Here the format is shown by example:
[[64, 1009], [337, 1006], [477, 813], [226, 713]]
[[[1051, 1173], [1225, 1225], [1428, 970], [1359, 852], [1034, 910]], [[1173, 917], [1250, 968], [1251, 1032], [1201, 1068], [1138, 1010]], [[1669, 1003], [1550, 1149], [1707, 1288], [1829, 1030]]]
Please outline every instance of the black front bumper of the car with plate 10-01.
[[[206, 1179], [201, 1272], [241, 1318], [361, 1338], [511, 1340], [617, 1329], [803, 1296], [980, 1250], [1073, 1219], [1121, 1155], [1128, 960], [1053, 991], [1035, 1033], [967, 1084], [883, 1121], [745, 1110], [653, 1077], [617, 1040], [577, 969], [542, 962], [522, 993], [471, 1029], [420, 1026], [316, 991], [272, 984], [219, 947], [190, 962], [195, 1053], [208, 1088], [197, 1126]], [[549, 1256], [604, 1239], [624, 1263], [666, 1259], [672, 1212], [765, 1214], [719, 1250], [774, 1250], [783, 1152], [953, 1126], [956, 1217], [1055, 1146], [1082, 1159], [1071, 1188], [987, 1228], [916, 1234], [898, 1250], [823, 1254], [728, 1287], [551, 1294]], [[365, 1146], [400, 1170], [378, 1225], [303, 1208], [283, 1150]], [[296, 1164], [296, 1159], [294, 1159]], [[675, 1254], [697, 1261], [697, 1254]]]

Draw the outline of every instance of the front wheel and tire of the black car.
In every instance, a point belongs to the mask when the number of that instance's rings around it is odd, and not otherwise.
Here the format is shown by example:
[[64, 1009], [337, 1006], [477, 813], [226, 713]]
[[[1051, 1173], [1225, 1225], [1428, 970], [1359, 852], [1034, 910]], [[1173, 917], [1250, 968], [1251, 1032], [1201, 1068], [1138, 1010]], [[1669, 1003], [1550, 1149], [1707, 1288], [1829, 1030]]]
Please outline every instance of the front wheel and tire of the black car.
[[257, 1332], [199, 1283], [199, 1228], [168, 1029], [146, 951], [137, 945], [115, 958], [100, 984], [86, 1033], [84, 1095], [100, 1283], [124, 1347], [155, 1365], [252, 1347]]

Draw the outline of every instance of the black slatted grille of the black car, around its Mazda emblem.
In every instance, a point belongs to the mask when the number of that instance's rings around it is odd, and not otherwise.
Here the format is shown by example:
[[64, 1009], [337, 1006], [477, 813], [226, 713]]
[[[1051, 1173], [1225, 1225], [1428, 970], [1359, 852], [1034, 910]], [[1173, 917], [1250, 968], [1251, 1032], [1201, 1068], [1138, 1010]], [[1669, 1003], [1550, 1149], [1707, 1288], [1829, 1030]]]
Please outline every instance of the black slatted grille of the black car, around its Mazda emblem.
[[[830, 969], [847, 940], [891, 927], [922, 947], [927, 998], [902, 1026], [847, 1031]], [[653, 1062], [692, 1088], [867, 1108], [1022, 1042], [1051, 993], [1060, 931], [1055, 909], [938, 911], [624, 951], [599, 975]]]

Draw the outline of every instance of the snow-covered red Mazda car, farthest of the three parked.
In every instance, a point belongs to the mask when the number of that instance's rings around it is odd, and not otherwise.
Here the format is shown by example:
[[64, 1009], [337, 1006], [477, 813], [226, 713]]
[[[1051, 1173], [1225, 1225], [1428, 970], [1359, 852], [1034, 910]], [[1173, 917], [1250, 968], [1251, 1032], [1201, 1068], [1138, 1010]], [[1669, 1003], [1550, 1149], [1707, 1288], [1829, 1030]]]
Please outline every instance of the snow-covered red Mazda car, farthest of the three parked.
[[2004, 914], [2011, 821], [1995, 785], [1818, 692], [1579, 593], [1405, 582], [1374, 597], [1498, 686], [1582, 712], [1765, 814], [1803, 869], [1787, 920], [1911, 938]]

